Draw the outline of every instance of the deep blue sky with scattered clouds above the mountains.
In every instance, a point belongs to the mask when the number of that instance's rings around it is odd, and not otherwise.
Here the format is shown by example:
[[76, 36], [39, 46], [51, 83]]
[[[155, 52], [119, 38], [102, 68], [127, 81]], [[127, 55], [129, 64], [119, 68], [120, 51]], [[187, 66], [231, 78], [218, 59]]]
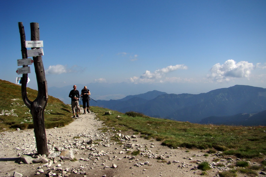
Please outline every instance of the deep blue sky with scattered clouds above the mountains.
[[[265, 0], [0, 1], [0, 78], [15, 83], [22, 76], [18, 22], [26, 40], [30, 23], [38, 22], [48, 88], [97, 82], [176, 94], [236, 84], [266, 88], [265, 9]], [[37, 89], [33, 65], [29, 77]]]

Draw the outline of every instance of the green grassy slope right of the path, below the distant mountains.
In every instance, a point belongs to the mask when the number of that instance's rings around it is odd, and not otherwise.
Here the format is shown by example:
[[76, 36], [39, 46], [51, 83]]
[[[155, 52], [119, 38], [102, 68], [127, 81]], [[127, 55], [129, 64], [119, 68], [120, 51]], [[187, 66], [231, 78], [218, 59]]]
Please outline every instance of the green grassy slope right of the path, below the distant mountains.
[[239, 158], [257, 158], [266, 154], [266, 127], [202, 125], [133, 112], [126, 115], [112, 110], [111, 115], [104, 115], [109, 109], [93, 106], [91, 110], [98, 113], [97, 117], [108, 127], [117, 129], [117, 125], [120, 125], [141, 133], [147, 139], [155, 138], [169, 147], [210, 149], [210, 153], [222, 151], [221, 155], [235, 155]]

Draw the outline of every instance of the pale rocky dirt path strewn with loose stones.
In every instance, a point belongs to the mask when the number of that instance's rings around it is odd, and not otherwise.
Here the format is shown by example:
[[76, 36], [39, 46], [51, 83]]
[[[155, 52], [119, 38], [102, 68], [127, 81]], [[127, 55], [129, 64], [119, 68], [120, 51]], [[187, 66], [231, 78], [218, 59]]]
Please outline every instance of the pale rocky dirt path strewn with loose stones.
[[[49, 157], [42, 163], [23, 163], [20, 157], [34, 156], [35, 137], [33, 130], [16, 130], [0, 133], [0, 177], [11, 176], [75, 176], [75, 177], [154, 177], [154, 176], [201, 176], [197, 164], [208, 161], [211, 170], [205, 176], [217, 176], [225, 171], [234, 158], [222, 158], [218, 154], [206, 156], [200, 150], [171, 149], [155, 140], [140, 138], [132, 132], [119, 132], [115, 128], [101, 132], [102, 122], [95, 114], [80, 115], [71, 124], [62, 128], [46, 130]], [[110, 140], [119, 137], [119, 141]], [[92, 140], [92, 141], [91, 141]], [[62, 151], [69, 150], [74, 160], [62, 160]], [[132, 152], [139, 152], [132, 155]], [[219, 159], [213, 162], [213, 159]], [[223, 165], [217, 165], [222, 163]], [[17, 172], [14, 175], [14, 172]], [[238, 176], [244, 176], [238, 174]], [[263, 176], [260, 175], [259, 176]]]

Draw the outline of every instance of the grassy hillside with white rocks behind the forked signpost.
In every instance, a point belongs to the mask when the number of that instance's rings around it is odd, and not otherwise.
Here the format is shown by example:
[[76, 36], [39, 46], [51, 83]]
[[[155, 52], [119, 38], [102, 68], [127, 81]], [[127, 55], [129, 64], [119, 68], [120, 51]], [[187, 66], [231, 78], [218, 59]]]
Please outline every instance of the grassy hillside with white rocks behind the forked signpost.
[[[21, 96], [21, 86], [0, 79], [0, 131], [4, 129], [33, 128], [33, 119], [29, 108], [25, 106]], [[27, 88], [27, 96], [34, 101], [38, 91]], [[8, 115], [5, 115], [8, 114]], [[63, 127], [73, 121], [71, 108], [57, 98], [48, 97], [44, 111], [45, 127]]]

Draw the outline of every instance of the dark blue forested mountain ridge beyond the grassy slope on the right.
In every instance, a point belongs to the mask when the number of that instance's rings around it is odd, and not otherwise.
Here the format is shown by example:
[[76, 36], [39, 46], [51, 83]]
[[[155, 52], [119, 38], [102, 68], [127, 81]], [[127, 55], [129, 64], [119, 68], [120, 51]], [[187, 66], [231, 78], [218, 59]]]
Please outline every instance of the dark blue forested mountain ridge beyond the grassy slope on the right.
[[[147, 92], [148, 93], [148, 92]], [[255, 114], [266, 110], [266, 89], [235, 85], [201, 94], [159, 94], [153, 99], [130, 96], [120, 100], [91, 102], [120, 112], [142, 112], [151, 117], [198, 123], [211, 116]], [[266, 119], [266, 118], [265, 118]]]

